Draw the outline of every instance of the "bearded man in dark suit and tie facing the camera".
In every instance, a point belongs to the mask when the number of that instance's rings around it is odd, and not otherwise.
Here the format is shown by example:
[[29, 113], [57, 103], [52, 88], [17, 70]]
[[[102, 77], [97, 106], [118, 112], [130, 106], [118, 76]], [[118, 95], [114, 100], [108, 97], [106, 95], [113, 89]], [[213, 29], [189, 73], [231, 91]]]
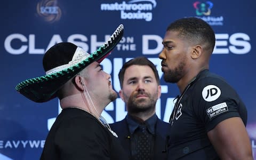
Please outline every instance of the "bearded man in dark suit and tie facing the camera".
[[[127, 115], [110, 124], [130, 159], [166, 159], [168, 123], [156, 115], [161, 85], [155, 65], [145, 57], [124, 63], [118, 74]], [[117, 153], [118, 154], [118, 153]]]

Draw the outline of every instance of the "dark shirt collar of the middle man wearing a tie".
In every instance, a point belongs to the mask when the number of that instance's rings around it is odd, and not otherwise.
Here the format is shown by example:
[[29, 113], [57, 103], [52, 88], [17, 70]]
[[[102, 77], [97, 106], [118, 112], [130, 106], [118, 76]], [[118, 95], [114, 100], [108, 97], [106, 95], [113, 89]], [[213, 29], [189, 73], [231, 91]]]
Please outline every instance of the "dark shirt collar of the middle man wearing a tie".
[[[125, 117], [127, 123], [128, 123], [128, 127], [129, 127], [129, 131], [131, 134], [134, 133], [134, 131], [137, 129], [137, 127], [141, 124], [141, 122], [139, 122], [137, 119], [135, 119], [134, 117], [132, 117], [131, 115], [127, 114]], [[154, 114], [153, 116], [151, 116], [150, 118], [148, 118], [145, 122], [147, 125], [147, 129], [149, 130], [149, 132], [151, 134], [155, 134], [155, 125], [157, 122], [157, 116], [156, 114]]]

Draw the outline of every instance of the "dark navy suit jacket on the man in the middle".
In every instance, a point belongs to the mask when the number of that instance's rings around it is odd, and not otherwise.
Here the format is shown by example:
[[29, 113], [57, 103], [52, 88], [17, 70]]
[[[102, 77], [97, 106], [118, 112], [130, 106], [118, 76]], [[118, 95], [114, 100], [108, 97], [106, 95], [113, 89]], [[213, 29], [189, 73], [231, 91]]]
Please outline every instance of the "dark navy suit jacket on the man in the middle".
[[[116, 132], [118, 135], [118, 139], [121, 141], [121, 144], [126, 151], [127, 155], [129, 155], [129, 159], [131, 159], [131, 143], [130, 143], [130, 131], [126, 121], [124, 118], [122, 121], [109, 124], [111, 129]], [[163, 122], [161, 119], [157, 118], [156, 129], [155, 129], [155, 145], [154, 145], [154, 160], [162, 160], [167, 159], [167, 130], [169, 127], [169, 123]]]

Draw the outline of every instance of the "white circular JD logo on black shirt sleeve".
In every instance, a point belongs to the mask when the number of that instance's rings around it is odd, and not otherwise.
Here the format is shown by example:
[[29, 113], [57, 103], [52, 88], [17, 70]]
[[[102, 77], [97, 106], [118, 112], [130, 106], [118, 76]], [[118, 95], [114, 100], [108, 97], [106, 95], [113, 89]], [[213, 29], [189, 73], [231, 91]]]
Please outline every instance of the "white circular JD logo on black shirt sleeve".
[[204, 87], [202, 92], [202, 96], [204, 100], [207, 102], [217, 100], [220, 97], [220, 94], [221, 94], [221, 91], [219, 87], [215, 85], [207, 85], [206, 87]]

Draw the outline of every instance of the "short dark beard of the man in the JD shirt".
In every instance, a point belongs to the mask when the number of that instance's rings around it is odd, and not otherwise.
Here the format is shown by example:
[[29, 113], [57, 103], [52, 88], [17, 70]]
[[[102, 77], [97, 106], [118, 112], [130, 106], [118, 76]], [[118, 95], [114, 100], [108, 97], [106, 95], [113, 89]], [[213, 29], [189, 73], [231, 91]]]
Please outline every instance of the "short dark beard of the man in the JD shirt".
[[185, 67], [185, 61], [182, 61], [177, 68], [173, 70], [168, 69], [164, 72], [164, 81], [170, 83], [177, 83], [183, 77], [183, 69]]

